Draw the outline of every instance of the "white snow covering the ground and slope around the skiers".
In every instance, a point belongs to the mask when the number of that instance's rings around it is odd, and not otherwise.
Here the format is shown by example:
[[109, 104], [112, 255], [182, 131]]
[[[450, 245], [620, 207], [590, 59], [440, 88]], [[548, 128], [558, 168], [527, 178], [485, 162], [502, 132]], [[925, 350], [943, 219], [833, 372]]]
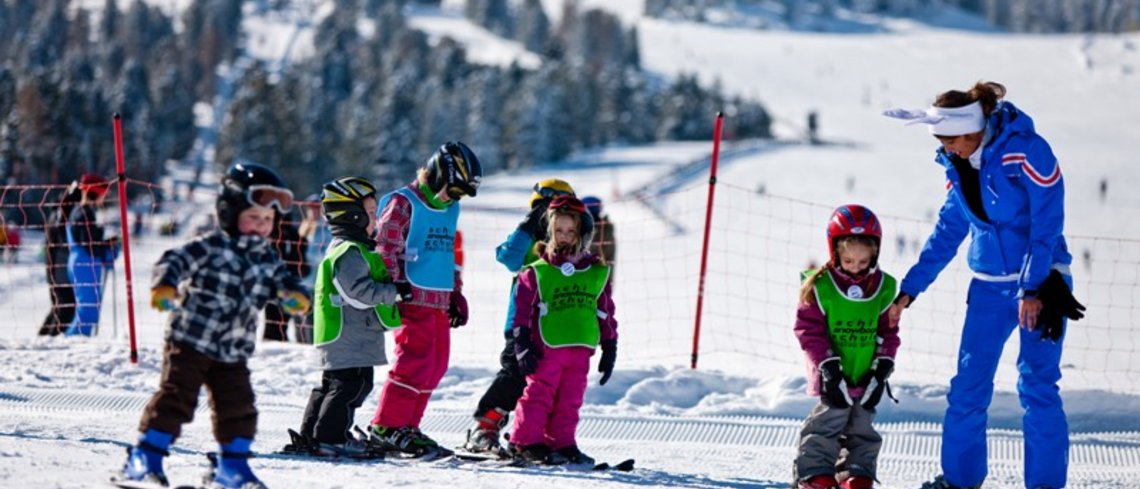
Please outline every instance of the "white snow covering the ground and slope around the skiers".
[[[630, 3], [609, 5], [622, 18], [637, 18], [629, 14]], [[413, 19], [425, 30], [456, 30], [457, 22], [462, 19], [454, 15], [431, 13]], [[675, 169], [706, 155], [710, 145], [584, 152], [562, 165], [488, 176], [479, 198], [465, 202], [461, 228], [472, 324], [454, 334], [453, 367], [429, 407], [425, 429], [445, 442], [462, 439], [500, 349], [510, 276], [490, 259], [491, 250], [521, 217], [534, 181], [560, 177], [583, 194], [609, 199], [620, 243], [618, 370], [608, 385], [595, 382], [587, 392], [581, 445], [600, 459], [636, 457], [641, 468], [611, 474], [450, 462], [258, 458], [254, 468], [270, 487], [787, 487], [798, 423], [814, 404], [803, 394], [801, 356], [790, 333], [795, 271], [822, 258], [822, 223], [831, 207], [847, 202], [864, 203], [883, 217], [883, 266], [898, 275], [905, 271], [914, 260], [913, 244], [925, 238], [928, 219], [942, 202], [943, 176], [930, 163], [935, 141], [922, 129], [901, 127], [878, 113], [921, 107], [938, 91], [979, 79], [1007, 83], [1010, 99], [1035, 117], [1052, 142], [1065, 172], [1070, 246], [1091, 254], [1075, 275], [1077, 296], [1090, 313], [1069, 336], [1061, 383], [1074, 432], [1070, 487], [1134, 486], [1140, 476], [1140, 419], [1134, 416], [1140, 410], [1134, 381], [1140, 376], [1140, 327], [1133, 318], [1140, 302], [1140, 229], [1127, 225], [1140, 207], [1140, 197], [1130, 191], [1140, 180], [1140, 169], [1130, 161], [1140, 140], [1140, 125], [1131, 116], [1140, 111], [1140, 36], [979, 34], [905, 21], [886, 23], [888, 30], [871, 34], [764, 32], [645, 18], [637, 24], [646, 68], [666, 76], [695, 71], [707, 80], [719, 79], [731, 91], [763, 99], [785, 141], [726, 147], [701, 368], [687, 365], [707, 176]], [[483, 35], [475, 27], [463, 32], [475, 33], [466, 42]], [[267, 34], [266, 46], [286, 46], [276, 35]], [[492, 50], [515, 48], [495, 46]], [[499, 60], [503, 52], [483, 59]], [[788, 142], [800, 136], [809, 109], [820, 112], [821, 136], [833, 144]], [[1097, 190], [1102, 179], [1108, 181], [1104, 201]], [[633, 197], [638, 189], [649, 190], [650, 205]], [[897, 248], [896, 238], [903, 243]], [[148, 235], [132, 250], [141, 347], [137, 366], [127, 360], [121, 268], [111, 282], [117, 291], [111, 298], [115, 305], [104, 313], [98, 337], [44, 340], [33, 337], [47, 294], [31, 246], [19, 263], [0, 266], [0, 480], [6, 487], [96, 487], [122, 463], [161, 367], [163, 317], [142, 299], [149, 267], [180, 239]], [[963, 268], [958, 260], [904, 317], [895, 378], [901, 404], [883, 406], [879, 418], [885, 488], [913, 488], [938, 472], [937, 423], [953, 372]], [[1021, 487], [1020, 408], [1010, 367], [1016, 351], [1016, 342], [1007, 345], [996, 381], [987, 488]], [[309, 348], [259, 347], [252, 361], [262, 413], [255, 450], [278, 448], [284, 430], [299, 423], [308, 391], [319, 380], [314, 365]], [[377, 378], [383, 374], [378, 369]], [[367, 423], [374, 408], [375, 393], [358, 421]], [[198, 413], [169, 458], [176, 482], [196, 480], [205, 466], [202, 454], [215, 449], [209, 411]]]

